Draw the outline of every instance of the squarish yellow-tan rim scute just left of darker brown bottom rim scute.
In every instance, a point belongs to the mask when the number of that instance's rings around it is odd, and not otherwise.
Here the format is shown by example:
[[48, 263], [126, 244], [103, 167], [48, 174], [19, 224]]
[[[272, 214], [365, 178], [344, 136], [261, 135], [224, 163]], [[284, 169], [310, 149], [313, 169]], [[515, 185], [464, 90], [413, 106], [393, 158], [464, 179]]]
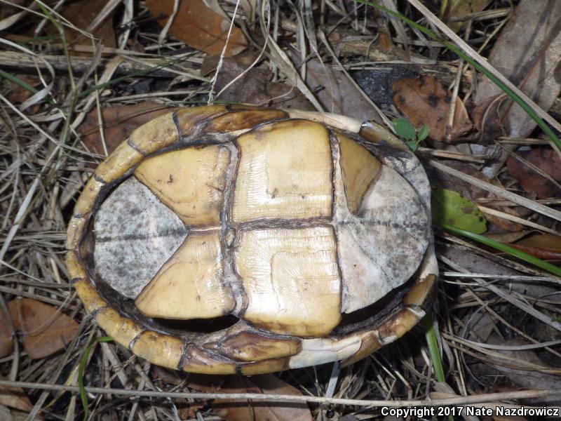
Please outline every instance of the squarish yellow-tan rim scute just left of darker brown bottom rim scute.
[[183, 354], [184, 342], [170, 335], [145, 330], [132, 342], [135, 354], [147, 359], [157, 366], [177, 370]]

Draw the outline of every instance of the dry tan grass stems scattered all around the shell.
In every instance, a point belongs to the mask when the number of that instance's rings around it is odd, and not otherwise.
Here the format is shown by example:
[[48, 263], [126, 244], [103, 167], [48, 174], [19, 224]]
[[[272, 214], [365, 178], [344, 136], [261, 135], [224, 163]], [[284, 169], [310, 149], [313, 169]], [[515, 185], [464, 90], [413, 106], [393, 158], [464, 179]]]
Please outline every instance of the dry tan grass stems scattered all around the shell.
[[[3, 6], [6, 3], [2, 1]], [[401, 22], [386, 22], [386, 29], [389, 31], [393, 25], [393, 45], [406, 43], [416, 57], [414, 62], [375, 46], [368, 47], [374, 35], [381, 34], [374, 22], [384, 22], [384, 18], [376, 17], [372, 9], [366, 13], [364, 5], [355, 4], [353, 8], [351, 2], [318, 1], [318, 13], [311, 15], [306, 12], [315, 3], [312, 1], [294, 2], [304, 5], [303, 8], [291, 1], [248, 3], [255, 4], [255, 13], [250, 16], [246, 8], [240, 8], [236, 24], [252, 34], [257, 55], [263, 52], [254, 65], [272, 69], [277, 81], [299, 88], [316, 109], [323, 110], [325, 102], [320, 102], [318, 92], [306, 85], [306, 69], [295, 65], [288, 41], [304, 58], [319, 57], [327, 67], [345, 69], [344, 75], [349, 79], [353, 69], [400, 62], [421, 65], [430, 71], [436, 67], [447, 69], [454, 100], [465, 100], [476, 89], [469, 83], [473, 74], [470, 67], [451, 58], [438, 42], [424, 39]], [[494, 2], [494, 13], [486, 11], [464, 17], [470, 21], [471, 31], [461, 34], [466, 43], [479, 48], [483, 55], [494, 44], [498, 33], [495, 29], [503, 27], [511, 16], [505, 3]], [[0, 307], [4, 311], [6, 302], [17, 297], [34, 298], [60, 308], [81, 325], [79, 334], [64, 351], [44, 359], [31, 360], [21, 345], [16, 346], [13, 354], [0, 359], [0, 374], [8, 381], [41, 385], [27, 390], [34, 407], [28, 419], [41, 412], [46, 420], [74, 420], [82, 416], [79, 397], [75, 393], [60, 393], [62, 387], [50, 385], [67, 385], [75, 391], [79, 357], [90, 340], [104, 335], [86, 316], [69, 286], [64, 260], [66, 223], [74, 201], [92, 168], [107, 151], [101, 109], [148, 99], [163, 107], [175, 107], [205, 103], [211, 92], [215, 100], [220, 100], [221, 95], [215, 86], [216, 79], [199, 72], [205, 54], [188, 48], [173, 36], [158, 34], [142, 2], [109, 2], [119, 6], [115, 18], [119, 41], [115, 48], [100, 46], [84, 28], [75, 27], [49, 8], [51, 19], [65, 32], [74, 29], [83, 33], [81, 45], [74, 48], [82, 55], [72, 60], [58, 40], [18, 42], [29, 37], [29, 32], [25, 32], [25, 37], [20, 35], [29, 16], [37, 16], [41, 26], [48, 24], [36, 3], [29, 4], [29, 8], [18, 6], [20, 14], [15, 18], [0, 20], [4, 37], [0, 41], [5, 48], [0, 51], [0, 69], [30, 80], [37, 91], [32, 96], [25, 95], [25, 90], [15, 83], [0, 79]], [[208, 4], [221, 5], [229, 16], [236, 6], [235, 1]], [[107, 11], [100, 11], [101, 20], [104, 13]], [[426, 24], [422, 15], [416, 12], [414, 16]], [[331, 41], [334, 33], [342, 34], [340, 44]], [[41, 34], [37, 31], [36, 36]], [[263, 34], [267, 36], [266, 45]], [[332, 43], [330, 46], [327, 39]], [[370, 51], [358, 53], [365, 45]], [[373, 58], [376, 54], [378, 60]], [[387, 55], [380, 60], [384, 54]], [[131, 72], [137, 74], [118, 80]], [[33, 79], [27, 79], [28, 76]], [[95, 86], [104, 87], [93, 89]], [[325, 89], [330, 86], [326, 84]], [[372, 102], [370, 98], [367, 101]], [[393, 107], [372, 107], [379, 120], [386, 123], [398, 115]], [[96, 110], [102, 145], [94, 153], [83, 142], [80, 127], [86, 115]], [[506, 138], [500, 142], [533, 145], [536, 140]], [[453, 168], [448, 171], [438, 161], [455, 159], [480, 168], [487, 156], [450, 148], [423, 148], [419, 153], [431, 156], [430, 166], [494, 193], [496, 197], [492, 200], [481, 199], [479, 204], [484, 210], [489, 210], [485, 206], [493, 201], [500, 201], [502, 209], [522, 206], [526, 209], [522, 219], [529, 220], [529, 227], [559, 232], [559, 199], [532, 199], [504, 171], [500, 174], [502, 185], [496, 185], [458, 171], [454, 173]], [[304, 396], [325, 398], [311, 399], [310, 407], [317, 420], [337, 420], [349, 414], [356, 418], [348, 420], [362, 420], [379, 416], [379, 408], [369, 406], [385, 401], [388, 405], [397, 405], [396, 401], [426, 403], [429, 398], [446, 399], [454, 395], [454, 403], [560, 404], [558, 396], [555, 401], [549, 395], [555, 394], [553, 389], [561, 389], [561, 280], [443, 232], [438, 233], [437, 245], [442, 279], [435, 309], [447, 385], [435, 385], [424, 335], [420, 328], [415, 328], [398, 342], [349, 368], [338, 370], [327, 364], [280, 373], [282, 380], [300, 389]], [[472, 267], [464, 267], [468, 262], [473, 263]], [[529, 378], [534, 381], [525, 383]], [[192, 392], [187, 387], [189, 377], [180, 385], [165, 382], [149, 364], [112, 343], [93, 349], [84, 379], [86, 385], [105, 389], [88, 393], [92, 420], [177, 420], [180, 413], [186, 413], [182, 408], [194, 402], [201, 405], [193, 405], [189, 416], [196, 420], [218, 419], [208, 406], [209, 396], [165, 393]], [[107, 388], [139, 393], [108, 394]], [[512, 393], [518, 389], [529, 392]], [[487, 393], [489, 396], [478, 396]], [[178, 400], [180, 397], [183, 399]]]

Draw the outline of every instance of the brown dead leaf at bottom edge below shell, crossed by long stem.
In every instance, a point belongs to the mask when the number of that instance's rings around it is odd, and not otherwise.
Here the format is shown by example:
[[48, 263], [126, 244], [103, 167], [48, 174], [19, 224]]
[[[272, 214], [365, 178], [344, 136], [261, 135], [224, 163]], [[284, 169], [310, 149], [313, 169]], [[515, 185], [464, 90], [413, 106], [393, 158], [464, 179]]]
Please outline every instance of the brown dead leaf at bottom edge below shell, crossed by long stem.
[[[189, 387], [200, 392], [221, 393], [266, 393], [291, 394], [302, 393], [279, 380], [272, 374], [260, 374], [252, 377], [227, 375], [222, 377], [197, 375], [190, 377]], [[250, 402], [216, 399], [212, 408], [219, 417], [226, 421], [266, 421], [266, 420], [313, 420], [306, 403], [294, 402]]]

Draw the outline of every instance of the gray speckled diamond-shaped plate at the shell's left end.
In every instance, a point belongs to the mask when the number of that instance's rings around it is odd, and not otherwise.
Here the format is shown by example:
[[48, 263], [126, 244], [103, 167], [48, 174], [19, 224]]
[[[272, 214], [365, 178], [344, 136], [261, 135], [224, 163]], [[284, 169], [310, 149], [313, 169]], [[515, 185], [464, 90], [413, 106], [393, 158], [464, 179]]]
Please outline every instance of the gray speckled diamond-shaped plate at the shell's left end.
[[97, 274], [131, 299], [187, 237], [180, 218], [134, 176], [102, 203], [94, 232]]

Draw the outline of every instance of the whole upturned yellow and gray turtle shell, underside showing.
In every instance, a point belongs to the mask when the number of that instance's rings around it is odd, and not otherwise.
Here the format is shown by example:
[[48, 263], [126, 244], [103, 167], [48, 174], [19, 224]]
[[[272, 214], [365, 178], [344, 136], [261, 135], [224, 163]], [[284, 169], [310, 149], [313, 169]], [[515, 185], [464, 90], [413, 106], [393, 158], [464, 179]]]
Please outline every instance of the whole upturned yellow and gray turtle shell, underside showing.
[[67, 236], [86, 310], [198, 373], [347, 365], [410, 330], [438, 267], [417, 158], [374, 123], [194, 107], [97, 167]]

